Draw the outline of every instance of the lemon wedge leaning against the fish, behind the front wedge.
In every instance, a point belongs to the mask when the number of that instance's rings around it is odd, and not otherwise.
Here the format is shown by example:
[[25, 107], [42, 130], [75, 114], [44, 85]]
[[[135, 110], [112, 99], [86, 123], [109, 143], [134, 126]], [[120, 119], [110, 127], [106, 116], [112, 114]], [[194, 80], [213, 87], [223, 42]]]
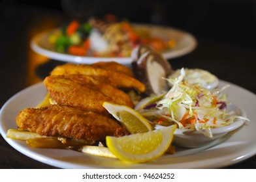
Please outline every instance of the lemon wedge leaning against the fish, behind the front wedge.
[[108, 110], [116, 120], [120, 121], [131, 134], [152, 131], [152, 125], [136, 110], [125, 105], [104, 102], [103, 107]]

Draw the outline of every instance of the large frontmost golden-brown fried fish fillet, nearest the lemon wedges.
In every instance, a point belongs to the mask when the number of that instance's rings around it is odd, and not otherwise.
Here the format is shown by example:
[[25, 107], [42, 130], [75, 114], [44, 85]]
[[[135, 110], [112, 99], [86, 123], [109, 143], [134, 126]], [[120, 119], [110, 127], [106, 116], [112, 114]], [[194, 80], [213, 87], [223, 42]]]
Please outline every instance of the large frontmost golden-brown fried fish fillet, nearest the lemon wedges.
[[40, 135], [85, 140], [105, 140], [106, 136], [129, 134], [107, 116], [61, 105], [24, 109], [16, 117], [16, 124], [22, 130]]

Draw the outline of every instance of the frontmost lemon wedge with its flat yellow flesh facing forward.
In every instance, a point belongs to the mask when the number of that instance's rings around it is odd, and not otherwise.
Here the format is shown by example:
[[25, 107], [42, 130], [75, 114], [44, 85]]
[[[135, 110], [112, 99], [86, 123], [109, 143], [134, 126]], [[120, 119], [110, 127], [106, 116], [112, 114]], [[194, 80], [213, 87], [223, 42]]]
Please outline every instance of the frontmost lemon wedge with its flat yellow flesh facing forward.
[[106, 146], [123, 161], [134, 163], [152, 161], [167, 151], [175, 129], [176, 125], [171, 125], [147, 133], [121, 137], [106, 136]]

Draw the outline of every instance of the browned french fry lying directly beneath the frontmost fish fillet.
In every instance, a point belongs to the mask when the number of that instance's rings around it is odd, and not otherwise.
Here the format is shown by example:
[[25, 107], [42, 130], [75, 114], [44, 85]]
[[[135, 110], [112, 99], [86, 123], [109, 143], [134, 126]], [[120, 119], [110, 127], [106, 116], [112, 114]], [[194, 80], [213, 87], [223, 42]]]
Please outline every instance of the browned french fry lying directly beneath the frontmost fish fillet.
[[95, 141], [92, 140], [78, 140], [67, 139], [48, 136], [45, 138], [33, 138], [26, 141], [27, 145], [31, 148], [68, 148], [82, 145], [92, 145]]

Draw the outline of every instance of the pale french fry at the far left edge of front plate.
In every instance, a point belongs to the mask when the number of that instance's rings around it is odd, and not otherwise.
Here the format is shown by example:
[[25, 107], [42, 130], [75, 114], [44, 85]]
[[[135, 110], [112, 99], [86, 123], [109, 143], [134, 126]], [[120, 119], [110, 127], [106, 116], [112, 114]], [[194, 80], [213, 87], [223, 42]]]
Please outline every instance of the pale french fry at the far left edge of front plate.
[[46, 136], [39, 135], [37, 133], [31, 133], [29, 131], [22, 131], [18, 129], [8, 129], [7, 138], [12, 138], [16, 140], [29, 140], [33, 138], [42, 138]]

